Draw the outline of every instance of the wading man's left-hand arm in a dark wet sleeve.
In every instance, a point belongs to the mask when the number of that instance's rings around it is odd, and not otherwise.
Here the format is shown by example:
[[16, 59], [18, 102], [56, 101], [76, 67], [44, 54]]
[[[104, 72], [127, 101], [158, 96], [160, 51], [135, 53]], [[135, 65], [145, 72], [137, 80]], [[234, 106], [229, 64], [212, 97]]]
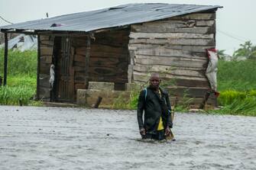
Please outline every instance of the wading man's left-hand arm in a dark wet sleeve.
[[137, 107], [138, 127], [140, 130], [144, 128], [143, 120], [142, 120], [144, 105], [145, 105], [145, 97], [144, 97], [144, 90], [143, 90], [141, 91], [138, 97], [138, 107]]

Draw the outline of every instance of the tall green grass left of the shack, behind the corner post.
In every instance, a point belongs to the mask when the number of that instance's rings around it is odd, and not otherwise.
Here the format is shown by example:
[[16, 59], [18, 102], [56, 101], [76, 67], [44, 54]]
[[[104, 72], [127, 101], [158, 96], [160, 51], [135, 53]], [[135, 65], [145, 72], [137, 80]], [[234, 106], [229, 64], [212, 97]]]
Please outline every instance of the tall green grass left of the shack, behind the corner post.
[[[3, 76], [4, 50], [0, 50]], [[0, 104], [40, 105], [32, 99], [37, 87], [37, 51], [8, 51], [7, 86], [0, 87]]]

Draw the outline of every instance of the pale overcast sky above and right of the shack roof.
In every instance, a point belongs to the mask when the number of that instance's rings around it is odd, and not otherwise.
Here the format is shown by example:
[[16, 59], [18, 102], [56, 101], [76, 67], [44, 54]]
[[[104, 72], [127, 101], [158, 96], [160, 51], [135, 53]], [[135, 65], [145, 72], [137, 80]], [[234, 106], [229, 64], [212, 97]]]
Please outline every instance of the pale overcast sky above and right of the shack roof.
[[[255, 0], [0, 0], [0, 16], [12, 23], [31, 21], [80, 11], [92, 11], [128, 3], [162, 2], [169, 4], [221, 5], [217, 11], [217, 48], [232, 54], [240, 43], [256, 44]], [[8, 24], [0, 18], [0, 25]]]

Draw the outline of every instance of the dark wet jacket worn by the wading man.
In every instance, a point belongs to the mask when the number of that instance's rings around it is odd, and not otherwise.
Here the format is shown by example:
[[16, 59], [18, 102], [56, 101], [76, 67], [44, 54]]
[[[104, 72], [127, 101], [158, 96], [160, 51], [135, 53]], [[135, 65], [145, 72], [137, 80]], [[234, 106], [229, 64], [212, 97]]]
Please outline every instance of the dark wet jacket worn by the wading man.
[[[142, 90], [138, 98], [138, 126], [146, 130], [146, 133], [155, 134], [160, 121], [160, 116], [164, 123], [164, 129], [168, 126], [172, 128], [173, 123], [170, 117], [170, 100], [167, 91], [160, 88], [162, 97], [147, 87], [147, 97], [145, 98], [145, 90]], [[168, 111], [169, 110], [169, 111]], [[144, 111], [144, 122], [142, 119]]]

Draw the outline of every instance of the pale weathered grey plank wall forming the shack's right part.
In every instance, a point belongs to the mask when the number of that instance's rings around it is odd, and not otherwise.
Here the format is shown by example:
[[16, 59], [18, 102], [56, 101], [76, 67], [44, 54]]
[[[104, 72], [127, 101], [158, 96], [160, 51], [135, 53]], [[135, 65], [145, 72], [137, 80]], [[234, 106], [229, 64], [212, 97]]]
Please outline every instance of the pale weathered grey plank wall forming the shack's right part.
[[[147, 82], [160, 72], [171, 94], [184, 91], [199, 103], [209, 88], [206, 49], [215, 47], [215, 11], [131, 25], [129, 82]], [[209, 102], [215, 102], [209, 100]]]

